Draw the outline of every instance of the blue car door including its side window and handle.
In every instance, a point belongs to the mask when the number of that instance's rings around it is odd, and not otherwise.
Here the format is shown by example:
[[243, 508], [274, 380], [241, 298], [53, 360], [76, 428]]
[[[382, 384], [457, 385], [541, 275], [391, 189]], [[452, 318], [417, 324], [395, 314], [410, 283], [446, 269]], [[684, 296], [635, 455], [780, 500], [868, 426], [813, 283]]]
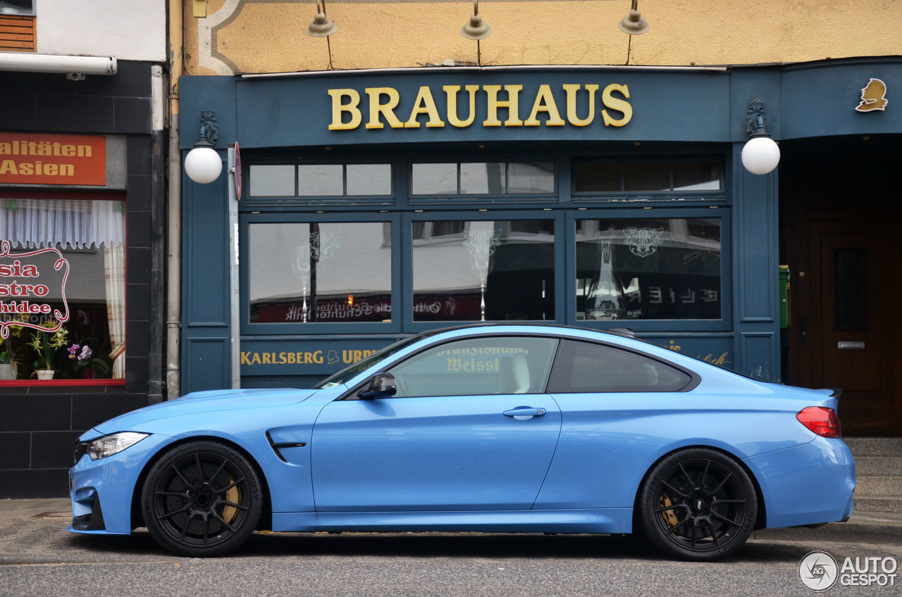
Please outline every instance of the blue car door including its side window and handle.
[[490, 335], [388, 368], [398, 393], [329, 403], [313, 429], [317, 511], [528, 510], [560, 433], [557, 339]]

